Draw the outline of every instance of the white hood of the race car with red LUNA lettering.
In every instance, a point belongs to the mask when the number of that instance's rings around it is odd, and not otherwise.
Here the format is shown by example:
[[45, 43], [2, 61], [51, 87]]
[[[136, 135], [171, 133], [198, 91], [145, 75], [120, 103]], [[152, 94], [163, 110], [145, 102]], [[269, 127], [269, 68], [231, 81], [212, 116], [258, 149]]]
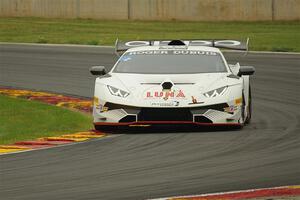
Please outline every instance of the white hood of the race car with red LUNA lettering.
[[[220, 87], [242, 83], [240, 78], [228, 77], [229, 73], [110, 75], [107, 78], [100, 78], [99, 81], [130, 93], [128, 98], [112, 97], [111, 101], [144, 107], [191, 106], [191, 102], [195, 99], [196, 102], [201, 100], [203, 105], [225, 102], [226, 100], [221, 98], [206, 99], [203, 94]], [[164, 82], [171, 82], [172, 88], [164, 90], [162, 87]]]

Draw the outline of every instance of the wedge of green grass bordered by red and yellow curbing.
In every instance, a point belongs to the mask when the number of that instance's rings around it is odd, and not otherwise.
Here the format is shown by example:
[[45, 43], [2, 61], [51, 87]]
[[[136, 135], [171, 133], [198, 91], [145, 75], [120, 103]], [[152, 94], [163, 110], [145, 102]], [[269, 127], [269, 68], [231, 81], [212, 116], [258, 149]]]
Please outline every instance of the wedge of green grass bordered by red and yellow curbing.
[[90, 116], [52, 105], [0, 95], [0, 144], [86, 131]]

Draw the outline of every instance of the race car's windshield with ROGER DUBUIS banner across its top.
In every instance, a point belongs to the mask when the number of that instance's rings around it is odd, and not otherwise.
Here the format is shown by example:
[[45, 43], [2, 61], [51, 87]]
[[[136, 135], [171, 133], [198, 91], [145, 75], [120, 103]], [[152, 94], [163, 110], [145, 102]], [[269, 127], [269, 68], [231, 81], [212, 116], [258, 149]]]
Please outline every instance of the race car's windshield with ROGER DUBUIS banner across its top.
[[193, 74], [227, 72], [219, 53], [197, 50], [147, 50], [125, 53], [113, 72]]

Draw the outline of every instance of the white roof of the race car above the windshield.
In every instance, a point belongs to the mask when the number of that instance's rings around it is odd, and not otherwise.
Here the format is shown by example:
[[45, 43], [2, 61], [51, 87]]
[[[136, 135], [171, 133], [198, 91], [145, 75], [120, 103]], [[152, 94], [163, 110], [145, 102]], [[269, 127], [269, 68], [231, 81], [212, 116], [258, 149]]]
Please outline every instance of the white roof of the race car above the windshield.
[[142, 46], [142, 47], [133, 47], [128, 49], [126, 52], [134, 51], [147, 51], [147, 50], [194, 50], [194, 51], [209, 51], [221, 53], [218, 48], [207, 47], [207, 46]]

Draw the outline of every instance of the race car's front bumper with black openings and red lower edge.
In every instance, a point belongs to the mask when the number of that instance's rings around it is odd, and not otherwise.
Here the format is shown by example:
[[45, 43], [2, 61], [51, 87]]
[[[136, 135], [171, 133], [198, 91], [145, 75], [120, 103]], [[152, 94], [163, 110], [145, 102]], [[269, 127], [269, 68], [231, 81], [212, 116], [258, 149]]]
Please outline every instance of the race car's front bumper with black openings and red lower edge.
[[[138, 126], [147, 124], [240, 125], [241, 106], [227, 103], [186, 108], [141, 108], [106, 103], [105, 111], [94, 107], [95, 125]], [[230, 112], [232, 111], [232, 112]]]

